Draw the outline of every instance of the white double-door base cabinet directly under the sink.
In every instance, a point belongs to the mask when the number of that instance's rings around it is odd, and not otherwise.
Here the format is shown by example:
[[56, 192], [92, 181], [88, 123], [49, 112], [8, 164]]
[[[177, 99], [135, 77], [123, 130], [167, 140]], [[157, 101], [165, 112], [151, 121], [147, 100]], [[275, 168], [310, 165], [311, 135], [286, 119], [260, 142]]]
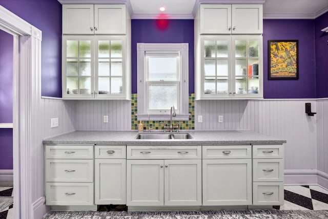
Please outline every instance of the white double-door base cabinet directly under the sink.
[[[200, 146], [197, 147], [200, 149]], [[131, 149], [133, 148], [128, 146], [128, 154]], [[175, 151], [175, 148], [170, 149], [170, 147], [166, 150], [174, 150], [177, 154], [182, 151]], [[165, 155], [156, 156], [156, 158], [160, 157], [165, 158]], [[200, 153], [198, 159], [192, 160], [150, 160], [150, 157], [147, 158], [147, 160], [127, 160], [128, 206], [201, 205]]]

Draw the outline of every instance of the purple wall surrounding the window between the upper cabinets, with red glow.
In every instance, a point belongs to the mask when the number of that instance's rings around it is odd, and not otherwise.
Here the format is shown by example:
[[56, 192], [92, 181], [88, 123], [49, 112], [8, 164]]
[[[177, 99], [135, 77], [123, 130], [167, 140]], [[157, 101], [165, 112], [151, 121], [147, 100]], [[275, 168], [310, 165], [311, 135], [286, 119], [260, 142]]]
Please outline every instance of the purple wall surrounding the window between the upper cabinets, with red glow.
[[189, 93], [194, 93], [194, 20], [131, 21], [132, 93], [137, 93], [137, 43], [189, 43]]

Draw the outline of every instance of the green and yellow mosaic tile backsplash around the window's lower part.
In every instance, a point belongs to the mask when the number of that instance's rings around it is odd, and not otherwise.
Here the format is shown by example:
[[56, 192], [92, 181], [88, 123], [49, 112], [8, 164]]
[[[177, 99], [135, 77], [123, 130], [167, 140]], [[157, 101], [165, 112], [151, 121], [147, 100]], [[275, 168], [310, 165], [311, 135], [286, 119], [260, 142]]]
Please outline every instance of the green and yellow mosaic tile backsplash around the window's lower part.
[[[131, 129], [138, 129], [138, 120], [137, 120], [137, 112], [138, 112], [138, 104], [137, 104], [137, 94], [133, 93], [131, 97]], [[142, 121], [144, 123], [144, 130], [149, 129], [149, 124], [152, 125], [153, 130], [161, 130], [163, 129], [163, 124], [159, 122], [165, 122], [170, 125], [170, 121]], [[190, 130], [195, 129], [195, 94], [189, 94], [189, 120], [188, 121], [177, 121], [179, 122], [181, 130]], [[175, 125], [176, 121], [173, 122]]]

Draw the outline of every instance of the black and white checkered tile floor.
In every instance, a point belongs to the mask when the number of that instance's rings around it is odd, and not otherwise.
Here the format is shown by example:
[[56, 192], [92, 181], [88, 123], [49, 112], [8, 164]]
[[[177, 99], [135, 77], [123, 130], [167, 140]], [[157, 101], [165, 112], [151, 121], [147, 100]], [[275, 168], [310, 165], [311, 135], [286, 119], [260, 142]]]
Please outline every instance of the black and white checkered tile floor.
[[[0, 187], [0, 196], [12, 196], [13, 187]], [[0, 212], [0, 219], [12, 219], [11, 205]], [[285, 186], [284, 204], [279, 210], [328, 210], [328, 190], [320, 186]]]

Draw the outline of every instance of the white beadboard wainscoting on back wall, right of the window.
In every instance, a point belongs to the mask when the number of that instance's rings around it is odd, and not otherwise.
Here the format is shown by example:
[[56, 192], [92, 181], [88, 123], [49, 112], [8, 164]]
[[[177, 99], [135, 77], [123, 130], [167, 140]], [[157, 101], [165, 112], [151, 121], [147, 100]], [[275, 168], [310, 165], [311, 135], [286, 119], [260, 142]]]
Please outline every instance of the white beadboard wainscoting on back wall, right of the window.
[[[195, 101], [195, 130], [250, 130], [275, 136], [287, 141], [285, 169], [317, 169], [317, 116], [305, 114], [305, 103], [316, 110], [315, 100]], [[202, 123], [197, 123], [198, 115]], [[223, 115], [223, 123], [218, 123], [218, 115]]]

